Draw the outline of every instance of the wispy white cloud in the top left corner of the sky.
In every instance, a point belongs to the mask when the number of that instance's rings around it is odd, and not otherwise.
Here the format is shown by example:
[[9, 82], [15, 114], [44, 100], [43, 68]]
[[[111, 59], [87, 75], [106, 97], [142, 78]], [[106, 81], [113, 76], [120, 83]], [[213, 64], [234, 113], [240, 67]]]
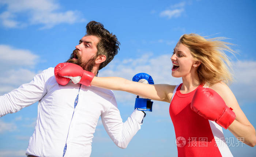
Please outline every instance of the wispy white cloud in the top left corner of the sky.
[[[0, 14], [2, 24], [8, 28], [24, 27], [27, 24], [43, 24], [44, 28], [52, 28], [60, 23], [72, 24], [84, 22], [79, 11], [58, 11], [60, 5], [54, 0], [2, 0], [0, 4], [7, 5], [7, 10]], [[20, 15], [26, 15], [27, 21], [19, 21]]]

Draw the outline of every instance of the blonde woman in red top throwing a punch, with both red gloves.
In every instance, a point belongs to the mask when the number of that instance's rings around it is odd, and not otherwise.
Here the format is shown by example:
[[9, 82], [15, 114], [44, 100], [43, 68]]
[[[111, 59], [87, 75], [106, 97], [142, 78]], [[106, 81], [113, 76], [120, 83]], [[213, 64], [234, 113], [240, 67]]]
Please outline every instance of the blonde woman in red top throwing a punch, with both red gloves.
[[[77, 69], [77, 65], [65, 65], [58, 76], [87, 85], [92, 80], [93, 86], [170, 103], [169, 112], [176, 140], [187, 142], [178, 145], [179, 157], [232, 156], [225, 143], [222, 127], [252, 147], [256, 145], [256, 136], [254, 127], [226, 85], [232, 77], [230, 61], [223, 50], [233, 51], [228, 46], [230, 43], [221, 39], [205, 39], [196, 34], [182, 35], [171, 57], [172, 76], [182, 78], [180, 85], [143, 84], [120, 77], [93, 78], [90, 72], [83, 69], [75, 74], [66, 72], [65, 68]], [[76, 76], [80, 78], [76, 80]]]

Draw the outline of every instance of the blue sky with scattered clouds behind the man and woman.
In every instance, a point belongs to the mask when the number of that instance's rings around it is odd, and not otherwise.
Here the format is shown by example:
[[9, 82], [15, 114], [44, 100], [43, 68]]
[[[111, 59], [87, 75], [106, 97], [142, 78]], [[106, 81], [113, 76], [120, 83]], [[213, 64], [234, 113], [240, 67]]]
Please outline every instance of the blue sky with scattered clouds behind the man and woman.
[[[232, 59], [235, 81], [230, 85], [238, 103], [256, 126], [256, 1], [60, 1], [0, 0], [0, 95], [28, 83], [35, 74], [67, 60], [85, 26], [101, 22], [121, 42], [114, 60], [100, 76], [130, 79], [146, 72], [155, 83], [179, 84], [171, 76], [170, 56], [182, 34], [227, 37], [239, 54]], [[114, 91], [123, 120], [132, 113], [135, 95]], [[37, 118], [37, 103], [0, 118], [0, 157], [24, 156]], [[256, 148], [236, 144], [236, 157], [255, 156]], [[114, 145], [101, 120], [94, 134], [91, 157], [177, 156], [169, 104], [154, 101], [142, 129], [127, 149]]]

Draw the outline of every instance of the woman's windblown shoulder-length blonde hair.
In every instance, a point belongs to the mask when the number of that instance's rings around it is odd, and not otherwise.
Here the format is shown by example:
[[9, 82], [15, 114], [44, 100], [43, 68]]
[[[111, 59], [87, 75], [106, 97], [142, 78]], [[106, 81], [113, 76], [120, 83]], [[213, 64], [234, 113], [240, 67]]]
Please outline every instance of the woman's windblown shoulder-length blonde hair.
[[234, 54], [228, 45], [234, 45], [221, 40], [224, 37], [206, 39], [197, 34], [184, 34], [180, 42], [187, 46], [196, 61], [202, 62], [197, 73], [202, 83], [213, 85], [224, 81], [233, 81], [230, 58], [224, 53], [228, 51]]

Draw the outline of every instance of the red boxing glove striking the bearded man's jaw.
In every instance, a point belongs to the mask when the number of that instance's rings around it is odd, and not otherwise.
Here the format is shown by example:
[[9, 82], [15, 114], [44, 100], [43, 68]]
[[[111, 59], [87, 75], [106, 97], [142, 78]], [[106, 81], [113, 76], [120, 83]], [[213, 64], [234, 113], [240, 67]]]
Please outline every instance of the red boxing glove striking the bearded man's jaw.
[[71, 79], [74, 84], [80, 83], [90, 86], [94, 73], [83, 70], [79, 65], [73, 63], [60, 63], [54, 68], [56, 81], [60, 85], [68, 84]]

